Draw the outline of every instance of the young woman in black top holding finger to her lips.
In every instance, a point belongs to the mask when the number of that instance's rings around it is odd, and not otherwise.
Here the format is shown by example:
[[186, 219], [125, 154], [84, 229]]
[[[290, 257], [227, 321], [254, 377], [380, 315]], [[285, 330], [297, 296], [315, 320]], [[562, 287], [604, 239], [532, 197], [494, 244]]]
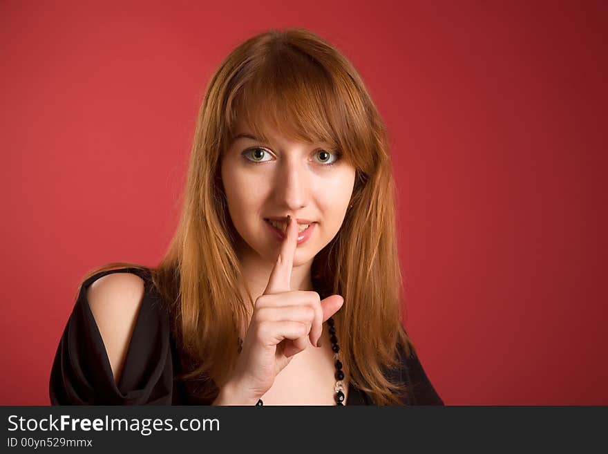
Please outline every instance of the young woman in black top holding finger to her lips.
[[393, 192], [348, 59], [248, 39], [202, 102], [167, 254], [85, 276], [51, 402], [442, 405], [401, 322]]

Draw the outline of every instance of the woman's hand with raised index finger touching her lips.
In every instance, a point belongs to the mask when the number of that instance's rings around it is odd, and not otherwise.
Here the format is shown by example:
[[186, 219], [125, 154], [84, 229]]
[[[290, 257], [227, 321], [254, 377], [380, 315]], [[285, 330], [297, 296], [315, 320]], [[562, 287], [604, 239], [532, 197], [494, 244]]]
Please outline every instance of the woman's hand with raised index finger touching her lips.
[[274, 378], [308, 346], [318, 346], [323, 322], [344, 302], [340, 295], [320, 301], [316, 292], [290, 290], [298, 224], [289, 219], [285, 238], [264, 293], [256, 299], [243, 350], [214, 404], [256, 404]]

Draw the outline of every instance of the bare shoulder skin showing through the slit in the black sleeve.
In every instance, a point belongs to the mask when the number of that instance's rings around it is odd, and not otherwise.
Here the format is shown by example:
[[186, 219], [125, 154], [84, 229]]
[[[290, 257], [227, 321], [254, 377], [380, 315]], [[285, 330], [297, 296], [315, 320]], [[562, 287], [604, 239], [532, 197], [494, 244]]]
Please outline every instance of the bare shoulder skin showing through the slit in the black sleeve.
[[144, 284], [144, 280], [136, 274], [117, 272], [98, 278], [86, 291], [86, 299], [102, 335], [116, 383], [122, 374], [144, 298]]

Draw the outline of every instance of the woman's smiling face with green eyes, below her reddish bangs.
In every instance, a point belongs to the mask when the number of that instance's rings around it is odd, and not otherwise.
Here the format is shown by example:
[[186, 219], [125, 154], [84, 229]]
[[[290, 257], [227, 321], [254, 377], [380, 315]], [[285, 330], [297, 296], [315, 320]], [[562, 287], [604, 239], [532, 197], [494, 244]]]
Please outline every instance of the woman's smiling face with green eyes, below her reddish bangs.
[[[266, 144], [238, 124], [236, 138], [222, 157], [220, 170], [232, 222], [250, 249], [274, 263], [281, 234], [269, 218], [283, 220], [289, 214], [301, 227], [311, 221], [307, 232], [298, 234], [294, 266], [312, 263], [342, 225], [355, 169], [324, 144], [265, 133]], [[284, 223], [278, 227], [284, 231]]]

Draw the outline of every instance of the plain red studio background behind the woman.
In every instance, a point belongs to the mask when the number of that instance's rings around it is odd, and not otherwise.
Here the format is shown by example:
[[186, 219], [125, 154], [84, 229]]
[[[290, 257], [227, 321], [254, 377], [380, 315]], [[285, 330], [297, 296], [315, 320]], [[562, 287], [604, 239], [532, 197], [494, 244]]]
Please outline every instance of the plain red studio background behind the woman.
[[605, 2], [125, 3], [0, 3], [0, 404], [48, 404], [84, 272], [158, 263], [211, 73], [287, 26], [386, 120], [406, 328], [446, 404], [608, 404]]

